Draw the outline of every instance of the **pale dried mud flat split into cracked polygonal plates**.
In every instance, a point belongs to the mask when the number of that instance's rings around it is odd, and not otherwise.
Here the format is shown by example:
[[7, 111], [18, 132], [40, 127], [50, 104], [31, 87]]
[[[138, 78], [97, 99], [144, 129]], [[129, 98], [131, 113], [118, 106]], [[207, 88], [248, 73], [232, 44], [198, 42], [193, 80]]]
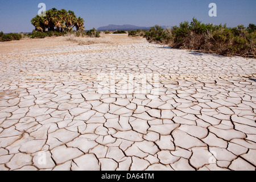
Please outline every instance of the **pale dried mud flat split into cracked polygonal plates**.
[[141, 40], [0, 63], [0, 170], [255, 170], [255, 59]]

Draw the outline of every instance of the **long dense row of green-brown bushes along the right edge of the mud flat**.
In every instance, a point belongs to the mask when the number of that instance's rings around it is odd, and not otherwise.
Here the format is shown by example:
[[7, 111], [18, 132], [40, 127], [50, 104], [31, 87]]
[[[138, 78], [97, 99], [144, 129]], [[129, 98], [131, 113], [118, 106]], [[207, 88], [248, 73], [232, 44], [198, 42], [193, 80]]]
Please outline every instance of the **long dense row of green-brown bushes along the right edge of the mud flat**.
[[227, 56], [256, 57], [256, 26], [249, 24], [234, 28], [226, 24], [201, 23], [193, 18], [191, 23], [182, 22], [179, 27], [164, 30], [151, 27], [144, 37], [148, 42], [168, 44], [174, 48], [191, 49]]

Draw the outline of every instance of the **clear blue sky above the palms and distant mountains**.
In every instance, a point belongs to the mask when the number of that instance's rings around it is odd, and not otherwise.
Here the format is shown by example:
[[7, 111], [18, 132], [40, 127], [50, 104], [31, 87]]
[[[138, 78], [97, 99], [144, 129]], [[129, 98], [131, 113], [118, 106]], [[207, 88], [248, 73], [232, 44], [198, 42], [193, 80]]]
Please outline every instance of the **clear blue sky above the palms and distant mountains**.
[[[209, 3], [216, 3], [217, 17], [210, 17]], [[38, 4], [45, 3], [46, 9], [72, 10], [85, 20], [85, 29], [109, 24], [133, 24], [175, 26], [193, 16], [203, 23], [256, 24], [255, 0], [1, 0], [0, 31], [31, 32], [30, 20], [38, 13]]]

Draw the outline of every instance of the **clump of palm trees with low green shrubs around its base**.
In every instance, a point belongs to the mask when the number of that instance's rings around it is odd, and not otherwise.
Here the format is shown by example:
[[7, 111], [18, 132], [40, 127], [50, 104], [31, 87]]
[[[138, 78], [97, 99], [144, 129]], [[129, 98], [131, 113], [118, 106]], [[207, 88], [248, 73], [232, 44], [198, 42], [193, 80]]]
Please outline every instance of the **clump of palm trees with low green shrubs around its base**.
[[[20, 40], [22, 38], [43, 39], [51, 36], [64, 36], [67, 33], [76, 34], [76, 36], [92, 36], [99, 37], [99, 32], [90, 30], [84, 32], [84, 19], [81, 17], [76, 18], [73, 11], [64, 9], [57, 10], [55, 8], [46, 11], [46, 16], [36, 15], [31, 19], [31, 23], [35, 26], [35, 30], [28, 34], [0, 34], [0, 42], [11, 40]], [[76, 27], [77, 31], [73, 31]]]

